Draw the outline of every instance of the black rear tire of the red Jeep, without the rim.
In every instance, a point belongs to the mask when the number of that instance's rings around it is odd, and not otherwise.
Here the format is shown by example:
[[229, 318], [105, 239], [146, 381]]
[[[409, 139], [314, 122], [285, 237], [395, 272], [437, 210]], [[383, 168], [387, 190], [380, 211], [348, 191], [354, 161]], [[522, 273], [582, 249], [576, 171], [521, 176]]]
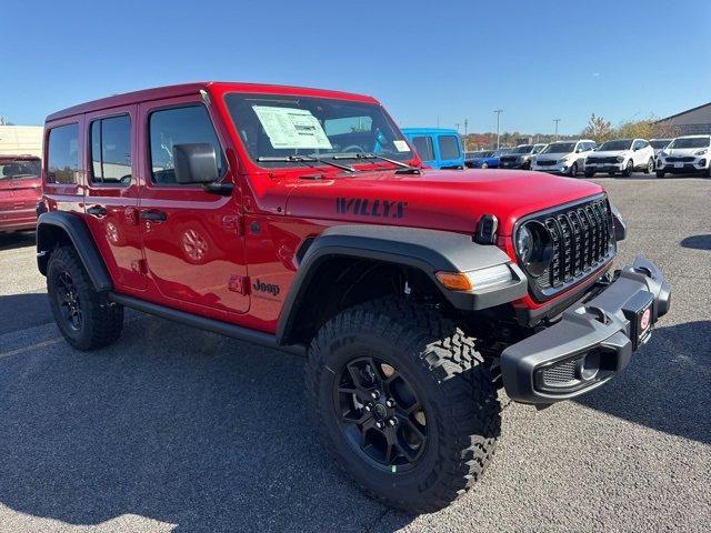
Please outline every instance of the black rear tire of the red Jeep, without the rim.
[[[78, 295], [82, 323], [77, 330], [69, 326], [59, 301], [58, 279], [68, 273]], [[67, 342], [81, 351], [108, 346], [121, 336], [123, 305], [110, 302], [106, 293], [97, 292], [79, 255], [72, 247], [61, 247], [52, 252], [47, 269], [47, 294], [59, 331]]]

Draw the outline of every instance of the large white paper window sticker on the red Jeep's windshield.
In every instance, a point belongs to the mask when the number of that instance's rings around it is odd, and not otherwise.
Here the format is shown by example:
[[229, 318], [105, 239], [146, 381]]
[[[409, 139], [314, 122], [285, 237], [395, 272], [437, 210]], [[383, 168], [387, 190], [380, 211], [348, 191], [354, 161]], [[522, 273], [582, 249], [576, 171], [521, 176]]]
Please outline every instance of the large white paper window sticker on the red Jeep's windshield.
[[308, 109], [271, 105], [252, 105], [252, 109], [269, 135], [272, 148], [333, 148], [321, 123]]

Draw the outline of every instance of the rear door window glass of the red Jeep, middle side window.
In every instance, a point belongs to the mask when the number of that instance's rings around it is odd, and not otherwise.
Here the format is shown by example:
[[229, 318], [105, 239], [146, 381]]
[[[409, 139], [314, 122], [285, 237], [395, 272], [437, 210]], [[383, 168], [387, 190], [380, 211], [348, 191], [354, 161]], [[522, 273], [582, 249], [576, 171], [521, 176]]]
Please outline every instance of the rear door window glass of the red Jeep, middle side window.
[[91, 182], [131, 182], [131, 118], [128, 114], [91, 122]]

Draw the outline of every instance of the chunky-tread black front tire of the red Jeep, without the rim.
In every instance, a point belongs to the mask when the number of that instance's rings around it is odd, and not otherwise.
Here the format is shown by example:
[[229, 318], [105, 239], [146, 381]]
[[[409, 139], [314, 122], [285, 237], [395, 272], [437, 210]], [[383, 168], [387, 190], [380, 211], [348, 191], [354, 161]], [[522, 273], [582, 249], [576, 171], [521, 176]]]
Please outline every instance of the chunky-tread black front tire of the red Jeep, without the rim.
[[[363, 351], [392, 361], [417, 385], [427, 420], [433, 420], [422, 459], [409, 472], [370, 464], [339, 425], [334, 382]], [[438, 511], [463, 495], [489, 465], [501, 433], [495, 386], [472, 339], [438, 311], [394, 298], [328, 321], [309, 348], [306, 383], [323, 447], [368, 494], [411, 513]]]

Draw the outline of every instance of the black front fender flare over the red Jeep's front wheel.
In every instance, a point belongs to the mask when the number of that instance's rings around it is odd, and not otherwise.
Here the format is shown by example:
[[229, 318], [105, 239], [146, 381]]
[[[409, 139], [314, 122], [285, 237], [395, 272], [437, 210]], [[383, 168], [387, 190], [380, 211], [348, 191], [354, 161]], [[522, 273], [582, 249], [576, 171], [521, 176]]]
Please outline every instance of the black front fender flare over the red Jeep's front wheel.
[[[347, 224], [328, 228], [309, 245], [284, 300], [277, 329], [277, 342], [288, 344], [299, 308], [310, 290], [321, 262], [334, 257], [371, 259], [411, 266], [424, 272], [447, 300], [462, 311], [475, 311], [523, 298], [528, 281], [507, 253], [479, 244], [471, 235], [420, 228]], [[437, 272], [467, 272], [508, 264], [512, 283], [493, 290], [451, 291], [435, 278]]]

